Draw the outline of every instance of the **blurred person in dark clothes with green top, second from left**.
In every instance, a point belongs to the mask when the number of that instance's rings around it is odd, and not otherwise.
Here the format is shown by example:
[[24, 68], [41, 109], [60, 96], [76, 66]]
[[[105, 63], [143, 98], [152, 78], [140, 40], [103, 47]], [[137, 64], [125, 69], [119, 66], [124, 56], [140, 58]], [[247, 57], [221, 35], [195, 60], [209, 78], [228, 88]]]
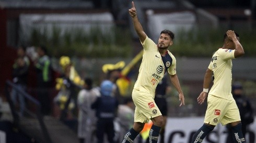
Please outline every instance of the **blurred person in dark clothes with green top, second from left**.
[[38, 99], [41, 103], [41, 112], [44, 115], [49, 115], [51, 112], [51, 101], [49, 95], [49, 89], [52, 83], [52, 70], [51, 60], [47, 55], [47, 50], [44, 46], [37, 48], [38, 59], [34, 61], [34, 66], [37, 72], [37, 87], [38, 87]]

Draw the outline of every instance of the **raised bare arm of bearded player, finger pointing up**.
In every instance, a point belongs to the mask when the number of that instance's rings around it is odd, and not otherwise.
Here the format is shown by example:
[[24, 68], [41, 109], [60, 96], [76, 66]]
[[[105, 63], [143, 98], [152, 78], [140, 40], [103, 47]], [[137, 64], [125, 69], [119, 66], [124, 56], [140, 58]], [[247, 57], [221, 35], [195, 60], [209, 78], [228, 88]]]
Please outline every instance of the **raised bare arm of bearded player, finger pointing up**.
[[134, 2], [132, 2], [132, 8], [129, 9], [129, 14], [132, 17], [133, 20], [133, 26], [138, 34], [139, 40], [143, 43], [147, 37], [146, 33], [144, 32], [141, 23], [138, 21], [137, 13], [136, 13], [136, 8], [134, 5]]

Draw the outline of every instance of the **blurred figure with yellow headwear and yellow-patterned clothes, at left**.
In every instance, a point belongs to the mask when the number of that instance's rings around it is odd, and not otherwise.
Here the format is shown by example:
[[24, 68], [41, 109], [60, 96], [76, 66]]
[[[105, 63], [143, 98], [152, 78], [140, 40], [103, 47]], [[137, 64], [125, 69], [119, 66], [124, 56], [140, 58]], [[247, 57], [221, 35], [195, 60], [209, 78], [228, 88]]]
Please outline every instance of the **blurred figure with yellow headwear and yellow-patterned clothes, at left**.
[[76, 100], [79, 90], [84, 86], [84, 81], [80, 78], [73, 63], [67, 56], [62, 56], [59, 61], [63, 75], [56, 79], [55, 88], [59, 91], [54, 98], [54, 102], [61, 110], [60, 120], [71, 119], [76, 109]]

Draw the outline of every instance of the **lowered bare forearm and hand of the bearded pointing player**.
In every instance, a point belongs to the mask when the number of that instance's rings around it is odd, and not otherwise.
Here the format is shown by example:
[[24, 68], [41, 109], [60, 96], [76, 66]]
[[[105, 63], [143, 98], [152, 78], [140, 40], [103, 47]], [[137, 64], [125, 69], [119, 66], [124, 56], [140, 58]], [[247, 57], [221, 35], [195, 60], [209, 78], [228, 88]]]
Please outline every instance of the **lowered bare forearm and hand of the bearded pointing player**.
[[181, 101], [180, 106], [185, 105], [185, 98], [184, 98], [183, 92], [181, 90], [180, 82], [179, 82], [177, 74], [174, 74], [174, 75], [169, 74], [169, 76], [170, 76], [172, 85], [176, 88], [176, 90], [179, 93], [179, 100]]

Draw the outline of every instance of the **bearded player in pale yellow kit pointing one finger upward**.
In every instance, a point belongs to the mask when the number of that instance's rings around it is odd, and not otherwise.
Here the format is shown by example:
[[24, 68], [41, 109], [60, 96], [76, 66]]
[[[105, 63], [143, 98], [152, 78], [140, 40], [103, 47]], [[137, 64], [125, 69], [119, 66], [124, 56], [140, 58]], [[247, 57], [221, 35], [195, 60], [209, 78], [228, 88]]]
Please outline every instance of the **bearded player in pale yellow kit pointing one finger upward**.
[[173, 44], [174, 34], [169, 30], [161, 31], [158, 44], [155, 44], [143, 31], [133, 2], [129, 13], [133, 20], [134, 29], [144, 48], [144, 53], [132, 92], [132, 98], [136, 106], [134, 124], [130, 131], [126, 133], [122, 142], [133, 142], [139, 132], [142, 131], [145, 123], [150, 119], [153, 125], [149, 132], [149, 142], [155, 143], [158, 141], [159, 131], [164, 123], [162, 114], [154, 101], [155, 89], [167, 71], [172, 84], [179, 92], [180, 106], [184, 105], [184, 95], [176, 74], [176, 59], [168, 50], [168, 47]]

